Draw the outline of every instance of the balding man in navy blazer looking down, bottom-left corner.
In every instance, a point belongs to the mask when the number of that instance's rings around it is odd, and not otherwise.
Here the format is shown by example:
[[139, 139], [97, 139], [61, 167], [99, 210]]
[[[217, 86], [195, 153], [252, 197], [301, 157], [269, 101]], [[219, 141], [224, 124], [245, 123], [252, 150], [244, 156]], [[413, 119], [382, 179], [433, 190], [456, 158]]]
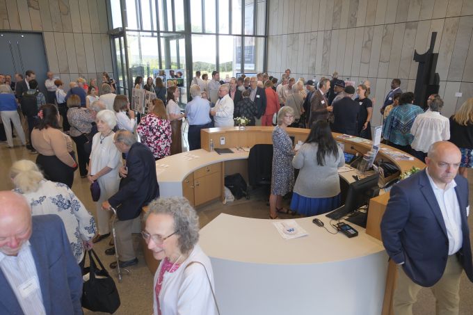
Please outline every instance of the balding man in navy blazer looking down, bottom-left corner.
[[12, 191], [0, 192], [0, 204], [0, 314], [83, 314], [81, 270], [61, 218], [32, 218]]

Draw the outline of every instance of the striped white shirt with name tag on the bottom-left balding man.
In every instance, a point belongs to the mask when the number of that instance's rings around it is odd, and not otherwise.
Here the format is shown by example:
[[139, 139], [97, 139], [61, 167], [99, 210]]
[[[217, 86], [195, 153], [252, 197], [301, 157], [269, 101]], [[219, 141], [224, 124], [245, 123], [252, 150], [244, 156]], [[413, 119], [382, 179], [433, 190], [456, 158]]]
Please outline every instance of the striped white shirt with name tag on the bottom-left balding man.
[[31, 254], [31, 244], [26, 241], [17, 256], [0, 252], [0, 268], [15, 293], [25, 315], [46, 315], [42, 301], [38, 270]]

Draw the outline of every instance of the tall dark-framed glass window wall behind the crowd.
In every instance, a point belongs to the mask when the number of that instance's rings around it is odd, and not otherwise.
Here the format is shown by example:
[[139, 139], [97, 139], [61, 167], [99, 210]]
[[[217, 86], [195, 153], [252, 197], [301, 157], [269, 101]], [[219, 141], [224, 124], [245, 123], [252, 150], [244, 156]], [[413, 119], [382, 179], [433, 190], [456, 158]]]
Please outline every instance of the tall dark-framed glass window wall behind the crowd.
[[[112, 25], [118, 27], [120, 0], [109, 1]], [[239, 72], [264, 71], [267, 1], [121, 0], [127, 25], [113, 40], [118, 85], [128, 90], [138, 75], [183, 70], [184, 94], [186, 76], [197, 70], [209, 76], [218, 70], [224, 81]]]

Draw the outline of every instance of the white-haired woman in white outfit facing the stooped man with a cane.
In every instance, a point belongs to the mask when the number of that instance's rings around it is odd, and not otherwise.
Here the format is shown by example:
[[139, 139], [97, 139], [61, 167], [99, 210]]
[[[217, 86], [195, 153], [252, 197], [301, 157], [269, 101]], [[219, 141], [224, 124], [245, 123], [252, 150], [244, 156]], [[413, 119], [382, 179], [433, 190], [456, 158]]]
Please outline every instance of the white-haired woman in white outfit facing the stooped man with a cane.
[[122, 160], [120, 152], [113, 144], [113, 128], [117, 124], [115, 113], [108, 109], [99, 111], [95, 122], [99, 132], [92, 140], [87, 178], [90, 184], [98, 181], [100, 187], [100, 198], [96, 202], [99, 233], [93, 239], [93, 242], [97, 243], [110, 235], [111, 212], [102, 209], [102, 202], [109, 200], [109, 197], [118, 191], [118, 170]]

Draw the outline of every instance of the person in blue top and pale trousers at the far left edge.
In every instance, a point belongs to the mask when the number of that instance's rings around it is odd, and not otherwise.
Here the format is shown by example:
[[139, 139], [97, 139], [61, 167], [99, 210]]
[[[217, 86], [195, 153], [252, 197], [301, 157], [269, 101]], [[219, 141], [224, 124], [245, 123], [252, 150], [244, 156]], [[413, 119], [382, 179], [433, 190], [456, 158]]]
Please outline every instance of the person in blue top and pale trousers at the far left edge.
[[15, 95], [11, 94], [11, 88], [6, 84], [0, 86], [0, 116], [1, 122], [3, 122], [3, 127], [5, 128], [6, 133], [6, 142], [8, 147], [13, 147], [13, 134], [11, 129], [10, 121], [13, 123], [13, 127], [17, 131], [17, 134], [22, 140], [22, 145], [26, 145], [26, 138], [24, 136], [22, 123], [19, 120], [18, 115], [18, 105], [15, 100]]

